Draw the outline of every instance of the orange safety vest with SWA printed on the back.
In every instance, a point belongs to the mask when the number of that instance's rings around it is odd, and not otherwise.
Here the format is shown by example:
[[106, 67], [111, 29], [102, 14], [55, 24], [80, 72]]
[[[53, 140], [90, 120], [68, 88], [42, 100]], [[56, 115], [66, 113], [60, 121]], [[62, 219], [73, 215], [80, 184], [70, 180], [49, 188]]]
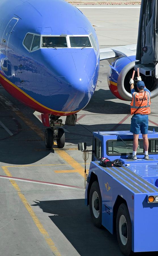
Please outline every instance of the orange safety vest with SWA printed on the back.
[[[143, 98], [144, 101], [142, 102]], [[139, 108], [141, 103], [142, 105]], [[148, 91], [146, 91], [145, 97], [144, 92], [134, 92], [132, 96], [132, 102], [130, 103], [130, 114], [150, 114], [150, 104], [150, 94]]]

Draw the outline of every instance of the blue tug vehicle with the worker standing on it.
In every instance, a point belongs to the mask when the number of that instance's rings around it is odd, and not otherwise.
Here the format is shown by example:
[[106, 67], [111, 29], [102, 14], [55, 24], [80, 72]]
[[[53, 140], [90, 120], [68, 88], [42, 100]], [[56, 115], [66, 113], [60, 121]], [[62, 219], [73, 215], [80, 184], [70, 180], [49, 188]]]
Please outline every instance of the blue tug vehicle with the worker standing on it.
[[[116, 232], [124, 255], [158, 251], [158, 133], [148, 131], [148, 139], [149, 159], [144, 159], [140, 133], [137, 160], [132, 160], [127, 159], [133, 146], [130, 131], [93, 132], [85, 204], [95, 226]], [[88, 151], [86, 143], [78, 149]], [[102, 164], [106, 157], [111, 167]]]

